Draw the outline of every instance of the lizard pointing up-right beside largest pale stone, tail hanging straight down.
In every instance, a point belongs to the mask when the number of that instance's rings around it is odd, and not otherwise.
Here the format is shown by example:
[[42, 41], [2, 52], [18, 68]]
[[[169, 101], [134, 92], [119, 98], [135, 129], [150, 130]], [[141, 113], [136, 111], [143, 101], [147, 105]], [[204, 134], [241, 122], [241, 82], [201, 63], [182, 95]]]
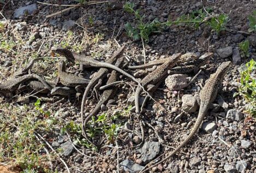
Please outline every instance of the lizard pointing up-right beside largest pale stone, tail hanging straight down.
[[[174, 67], [176, 62], [180, 59], [181, 53], [177, 53], [168, 58], [168, 61], [160, 65], [156, 70], [152, 73], [148, 74], [141, 80], [141, 85], [146, 86], [148, 84], [155, 85], [159, 82], [160, 79], [163, 78], [167, 74], [168, 69]], [[136, 114], [140, 114], [139, 110], [139, 95], [141, 92], [141, 87], [137, 87], [135, 91], [135, 112]]]

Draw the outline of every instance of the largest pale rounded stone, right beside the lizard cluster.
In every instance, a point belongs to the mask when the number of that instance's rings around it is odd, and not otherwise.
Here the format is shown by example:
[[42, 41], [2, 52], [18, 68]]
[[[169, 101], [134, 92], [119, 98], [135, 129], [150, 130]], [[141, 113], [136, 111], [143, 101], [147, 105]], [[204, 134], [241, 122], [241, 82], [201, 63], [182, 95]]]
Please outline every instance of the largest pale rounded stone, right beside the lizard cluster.
[[171, 91], [181, 90], [182, 88], [187, 87], [187, 84], [189, 82], [187, 77], [187, 75], [183, 74], [169, 75], [165, 79], [165, 84]]

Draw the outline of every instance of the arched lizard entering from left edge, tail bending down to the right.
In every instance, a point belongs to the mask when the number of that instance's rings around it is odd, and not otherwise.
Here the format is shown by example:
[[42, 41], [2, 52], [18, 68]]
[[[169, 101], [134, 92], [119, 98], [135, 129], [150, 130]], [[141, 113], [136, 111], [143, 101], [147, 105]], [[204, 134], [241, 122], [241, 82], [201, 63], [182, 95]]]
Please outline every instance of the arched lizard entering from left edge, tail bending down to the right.
[[43, 80], [42, 77], [36, 75], [36, 74], [27, 74], [27, 75], [23, 75], [17, 78], [11, 78], [10, 80], [7, 80], [3, 83], [0, 84], [0, 92], [4, 92], [4, 91], [10, 91], [13, 90], [14, 87], [16, 87], [17, 85], [19, 85], [21, 82], [25, 82], [29, 79], [37, 79], [40, 82], [42, 82], [44, 84], [44, 86], [48, 89], [51, 90], [52, 87]]

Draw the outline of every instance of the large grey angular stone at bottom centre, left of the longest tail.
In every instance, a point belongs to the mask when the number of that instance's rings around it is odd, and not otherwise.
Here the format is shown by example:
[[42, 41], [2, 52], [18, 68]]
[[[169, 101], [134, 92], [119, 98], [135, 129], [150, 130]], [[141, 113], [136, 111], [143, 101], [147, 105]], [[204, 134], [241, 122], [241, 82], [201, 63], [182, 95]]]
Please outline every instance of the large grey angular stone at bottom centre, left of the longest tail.
[[160, 152], [160, 143], [154, 141], [147, 141], [139, 150], [141, 153], [141, 160], [144, 163], [148, 163], [153, 160]]

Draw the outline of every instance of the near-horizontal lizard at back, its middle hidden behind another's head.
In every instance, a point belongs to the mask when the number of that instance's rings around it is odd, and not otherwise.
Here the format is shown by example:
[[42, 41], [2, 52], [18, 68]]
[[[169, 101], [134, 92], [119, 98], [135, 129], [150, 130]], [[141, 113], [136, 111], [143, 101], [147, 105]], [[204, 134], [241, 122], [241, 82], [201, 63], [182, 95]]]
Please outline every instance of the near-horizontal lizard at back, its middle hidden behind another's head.
[[[128, 66], [128, 68], [132, 69], [132, 70], [151, 68], [154, 65], [162, 65], [163, 63], [168, 61], [169, 58], [158, 59], [156, 61], [151, 61], [151, 62], [143, 64], [143, 65]], [[190, 61], [191, 59], [197, 59], [197, 55], [195, 53], [189, 52], [189, 53], [182, 55], [180, 60], [177, 63]]]

